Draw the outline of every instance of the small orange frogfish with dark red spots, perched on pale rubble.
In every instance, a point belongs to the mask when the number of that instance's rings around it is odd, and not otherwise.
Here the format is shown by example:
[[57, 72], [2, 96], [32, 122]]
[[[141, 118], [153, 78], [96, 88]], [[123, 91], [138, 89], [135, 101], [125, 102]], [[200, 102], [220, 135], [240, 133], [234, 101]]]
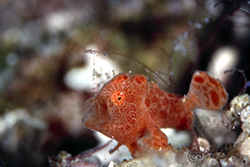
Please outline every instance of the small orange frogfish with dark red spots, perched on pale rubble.
[[160, 128], [190, 130], [192, 110], [220, 110], [227, 102], [222, 83], [206, 72], [193, 74], [189, 92], [180, 96], [148, 82], [144, 75], [121, 73], [107, 82], [97, 96], [84, 104], [82, 122], [125, 145], [132, 155], [139, 145], [154, 150], [168, 149], [167, 136]]

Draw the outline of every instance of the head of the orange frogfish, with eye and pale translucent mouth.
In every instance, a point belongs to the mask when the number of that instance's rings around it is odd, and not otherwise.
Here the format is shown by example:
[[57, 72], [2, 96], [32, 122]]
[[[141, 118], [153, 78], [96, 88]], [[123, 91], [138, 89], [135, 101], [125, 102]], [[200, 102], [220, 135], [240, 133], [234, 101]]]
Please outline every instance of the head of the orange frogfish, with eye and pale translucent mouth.
[[82, 123], [100, 132], [123, 126], [131, 113], [137, 112], [147, 93], [143, 75], [118, 74], [107, 82], [97, 96], [88, 99], [83, 107]]

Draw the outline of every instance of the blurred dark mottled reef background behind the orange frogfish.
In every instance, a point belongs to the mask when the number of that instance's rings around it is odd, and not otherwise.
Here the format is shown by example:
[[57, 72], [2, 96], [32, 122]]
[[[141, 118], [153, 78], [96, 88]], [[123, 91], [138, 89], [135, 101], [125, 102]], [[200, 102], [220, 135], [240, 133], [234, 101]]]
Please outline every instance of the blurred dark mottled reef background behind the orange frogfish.
[[[53, 17], [65, 24], [51, 26]], [[0, 166], [48, 166], [60, 150], [77, 155], [97, 145], [77, 119], [90, 90], [75, 91], [63, 81], [68, 70], [85, 65], [74, 55], [86, 46], [134, 57], [166, 78], [172, 71], [171, 87], [161, 86], [185, 94], [193, 72], [207, 70], [223, 46], [239, 53], [229, 69], [244, 70], [250, 80], [249, 21], [243, 0], [2, 0]], [[146, 74], [129, 58], [109, 56], [124, 72]], [[242, 73], [227, 75], [230, 98], [249, 92]]]

